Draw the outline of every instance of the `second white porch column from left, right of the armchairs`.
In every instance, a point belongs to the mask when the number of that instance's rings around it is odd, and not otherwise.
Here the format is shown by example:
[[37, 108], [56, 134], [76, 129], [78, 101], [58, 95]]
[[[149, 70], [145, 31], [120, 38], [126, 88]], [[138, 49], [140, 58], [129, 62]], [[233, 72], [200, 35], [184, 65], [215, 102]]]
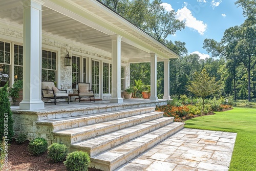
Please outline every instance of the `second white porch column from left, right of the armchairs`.
[[112, 35], [112, 98], [111, 103], [122, 103], [121, 98], [121, 38]]

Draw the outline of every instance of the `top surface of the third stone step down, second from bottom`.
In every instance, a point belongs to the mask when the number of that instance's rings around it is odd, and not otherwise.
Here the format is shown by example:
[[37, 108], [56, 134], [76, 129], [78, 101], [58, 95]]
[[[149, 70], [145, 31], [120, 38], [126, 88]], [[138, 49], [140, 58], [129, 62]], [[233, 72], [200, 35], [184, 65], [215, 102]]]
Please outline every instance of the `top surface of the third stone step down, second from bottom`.
[[71, 147], [73, 148], [79, 148], [79, 149], [88, 149], [89, 151], [98, 147], [101, 147], [104, 144], [107, 143], [113, 143], [117, 140], [120, 140], [124, 137], [127, 137], [129, 135], [141, 132], [143, 130], [149, 129], [152, 126], [155, 126], [161, 122], [165, 122], [167, 120], [172, 120], [173, 121], [173, 117], [162, 117], [162, 118], [158, 118], [156, 120], [153, 121], [149, 121], [149, 122], [145, 122], [145, 123], [141, 123], [132, 127], [127, 127], [125, 129], [122, 130], [118, 130], [112, 133], [108, 133], [108, 134], [104, 134], [98, 137], [94, 137], [91, 139], [87, 139], [87, 140], [83, 140], [80, 142], [76, 142], [76, 143], [72, 143]]

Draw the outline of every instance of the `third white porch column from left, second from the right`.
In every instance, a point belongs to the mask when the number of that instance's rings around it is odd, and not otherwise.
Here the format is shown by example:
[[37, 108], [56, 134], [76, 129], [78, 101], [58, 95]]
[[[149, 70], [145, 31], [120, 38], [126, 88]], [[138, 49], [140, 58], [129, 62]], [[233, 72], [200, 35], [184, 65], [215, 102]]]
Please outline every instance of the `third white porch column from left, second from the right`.
[[151, 53], [151, 76], [150, 76], [150, 84], [151, 84], [151, 96], [150, 100], [158, 100], [157, 97], [157, 55], [155, 53]]

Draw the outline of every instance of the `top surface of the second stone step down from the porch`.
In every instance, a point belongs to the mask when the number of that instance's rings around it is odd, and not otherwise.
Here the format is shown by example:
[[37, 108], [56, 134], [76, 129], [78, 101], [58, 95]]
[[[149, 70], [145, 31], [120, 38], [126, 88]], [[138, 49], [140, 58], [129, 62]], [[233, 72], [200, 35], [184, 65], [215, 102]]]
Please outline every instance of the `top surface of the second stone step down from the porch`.
[[159, 114], [162, 115], [163, 112], [150, 112], [150, 113], [145, 113], [145, 114], [141, 114], [141, 115], [135, 115], [135, 116], [130, 116], [130, 117], [126, 117], [126, 118], [116, 119], [116, 120], [112, 120], [112, 121], [106, 121], [106, 122], [101, 122], [101, 123], [85, 125], [85, 126], [81, 126], [81, 127], [75, 127], [72, 129], [56, 131], [56, 132], [53, 132], [53, 134], [61, 135], [61, 136], [76, 136], [79, 134], [94, 132], [94, 131], [106, 129], [108, 127], [113, 127], [115, 125], [124, 124], [127, 122], [133, 122], [135, 120], [140, 120], [141, 118], [152, 117], [152, 116], [159, 115]]

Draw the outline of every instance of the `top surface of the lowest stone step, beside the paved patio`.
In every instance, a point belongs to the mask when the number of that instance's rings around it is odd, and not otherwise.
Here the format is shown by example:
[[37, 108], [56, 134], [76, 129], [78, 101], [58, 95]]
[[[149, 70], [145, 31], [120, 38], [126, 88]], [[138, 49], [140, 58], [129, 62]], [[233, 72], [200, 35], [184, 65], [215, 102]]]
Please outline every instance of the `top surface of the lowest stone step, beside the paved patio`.
[[108, 151], [100, 153], [96, 156], [91, 156], [91, 162], [100, 162], [102, 164], [111, 165], [118, 160], [128, 156], [129, 154], [137, 151], [139, 148], [146, 145], [147, 143], [154, 141], [154, 139], [157, 139], [165, 133], [176, 129], [177, 127], [180, 127], [180, 129], [182, 129], [183, 125], [183, 122], [173, 122], [171, 124], [163, 126], [160, 129], [142, 135], [138, 138], [134, 138], [126, 143], [115, 146]]

